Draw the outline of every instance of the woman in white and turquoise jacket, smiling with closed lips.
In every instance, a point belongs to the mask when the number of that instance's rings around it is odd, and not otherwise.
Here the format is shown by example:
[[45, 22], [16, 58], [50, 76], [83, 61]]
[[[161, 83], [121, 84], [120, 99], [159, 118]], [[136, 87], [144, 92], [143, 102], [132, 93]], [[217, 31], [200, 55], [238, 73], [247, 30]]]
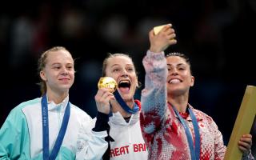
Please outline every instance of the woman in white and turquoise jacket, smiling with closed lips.
[[74, 83], [70, 52], [62, 46], [46, 50], [38, 71], [42, 97], [11, 110], [0, 130], [0, 159], [101, 159], [106, 130], [98, 122], [94, 127], [92, 118], [69, 102]]

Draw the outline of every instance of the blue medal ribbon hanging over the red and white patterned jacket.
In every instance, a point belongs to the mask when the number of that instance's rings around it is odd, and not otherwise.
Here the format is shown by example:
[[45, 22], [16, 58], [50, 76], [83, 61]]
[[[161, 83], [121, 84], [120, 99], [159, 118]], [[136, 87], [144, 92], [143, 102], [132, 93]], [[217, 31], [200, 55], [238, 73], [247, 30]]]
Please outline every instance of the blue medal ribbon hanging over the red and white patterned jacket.
[[[170, 104], [170, 106], [172, 106], [172, 105]], [[190, 146], [191, 159], [199, 160], [200, 134], [199, 134], [197, 118], [195, 117], [195, 115], [194, 115], [193, 111], [190, 109], [190, 107], [187, 107], [187, 109], [189, 110], [189, 113], [190, 113], [190, 117], [192, 119], [193, 126], [194, 126], [194, 137], [195, 137], [195, 146], [194, 146], [194, 142], [193, 142], [193, 138], [190, 134], [189, 126], [186, 124], [184, 118], [182, 118], [180, 116], [180, 114], [178, 114], [178, 110], [176, 110], [176, 108], [174, 106], [173, 106], [173, 109], [174, 109], [175, 114], [178, 116], [178, 120], [182, 123], [182, 126], [185, 129], [186, 138], [187, 138], [187, 141], [189, 142], [189, 146]]]

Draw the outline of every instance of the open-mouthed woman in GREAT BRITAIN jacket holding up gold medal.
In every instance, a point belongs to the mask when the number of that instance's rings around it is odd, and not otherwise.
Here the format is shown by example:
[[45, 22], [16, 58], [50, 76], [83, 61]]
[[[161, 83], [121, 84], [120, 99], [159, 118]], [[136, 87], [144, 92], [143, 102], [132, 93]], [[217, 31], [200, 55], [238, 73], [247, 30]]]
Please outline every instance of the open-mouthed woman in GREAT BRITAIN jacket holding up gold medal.
[[103, 159], [147, 159], [139, 121], [140, 102], [134, 100], [138, 87], [134, 62], [127, 54], [109, 54], [103, 62], [102, 72], [103, 77], [114, 78], [117, 82], [117, 90], [113, 94], [103, 88], [95, 95], [101, 112], [98, 114], [102, 117], [110, 114], [109, 148]]

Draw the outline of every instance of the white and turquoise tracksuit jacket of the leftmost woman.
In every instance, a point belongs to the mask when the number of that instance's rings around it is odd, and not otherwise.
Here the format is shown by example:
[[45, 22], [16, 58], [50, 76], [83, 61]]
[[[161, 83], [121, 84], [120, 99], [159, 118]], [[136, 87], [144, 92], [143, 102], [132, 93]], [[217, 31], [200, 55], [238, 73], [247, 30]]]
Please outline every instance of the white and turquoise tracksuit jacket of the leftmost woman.
[[[11, 110], [0, 130], [0, 159], [42, 159], [41, 99], [22, 102]], [[58, 105], [48, 102], [50, 150], [68, 100]], [[86, 112], [70, 103], [70, 119], [56, 159], [101, 159], [107, 148], [107, 133], [92, 131], [94, 124]]]

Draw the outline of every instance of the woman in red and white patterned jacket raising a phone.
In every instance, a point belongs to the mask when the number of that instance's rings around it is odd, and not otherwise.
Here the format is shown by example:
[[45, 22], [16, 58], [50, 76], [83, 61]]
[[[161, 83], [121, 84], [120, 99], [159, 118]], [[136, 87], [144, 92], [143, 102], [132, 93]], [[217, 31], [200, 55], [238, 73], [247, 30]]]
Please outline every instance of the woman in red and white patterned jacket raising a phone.
[[[142, 134], [149, 149], [149, 159], [223, 159], [226, 146], [214, 120], [188, 103], [194, 76], [184, 54], [165, 57], [163, 50], [176, 43], [174, 29], [166, 25], [158, 34], [150, 31], [150, 50], [143, 59], [146, 70], [142, 90]], [[245, 134], [238, 142], [242, 159], [250, 154], [252, 136]]]

